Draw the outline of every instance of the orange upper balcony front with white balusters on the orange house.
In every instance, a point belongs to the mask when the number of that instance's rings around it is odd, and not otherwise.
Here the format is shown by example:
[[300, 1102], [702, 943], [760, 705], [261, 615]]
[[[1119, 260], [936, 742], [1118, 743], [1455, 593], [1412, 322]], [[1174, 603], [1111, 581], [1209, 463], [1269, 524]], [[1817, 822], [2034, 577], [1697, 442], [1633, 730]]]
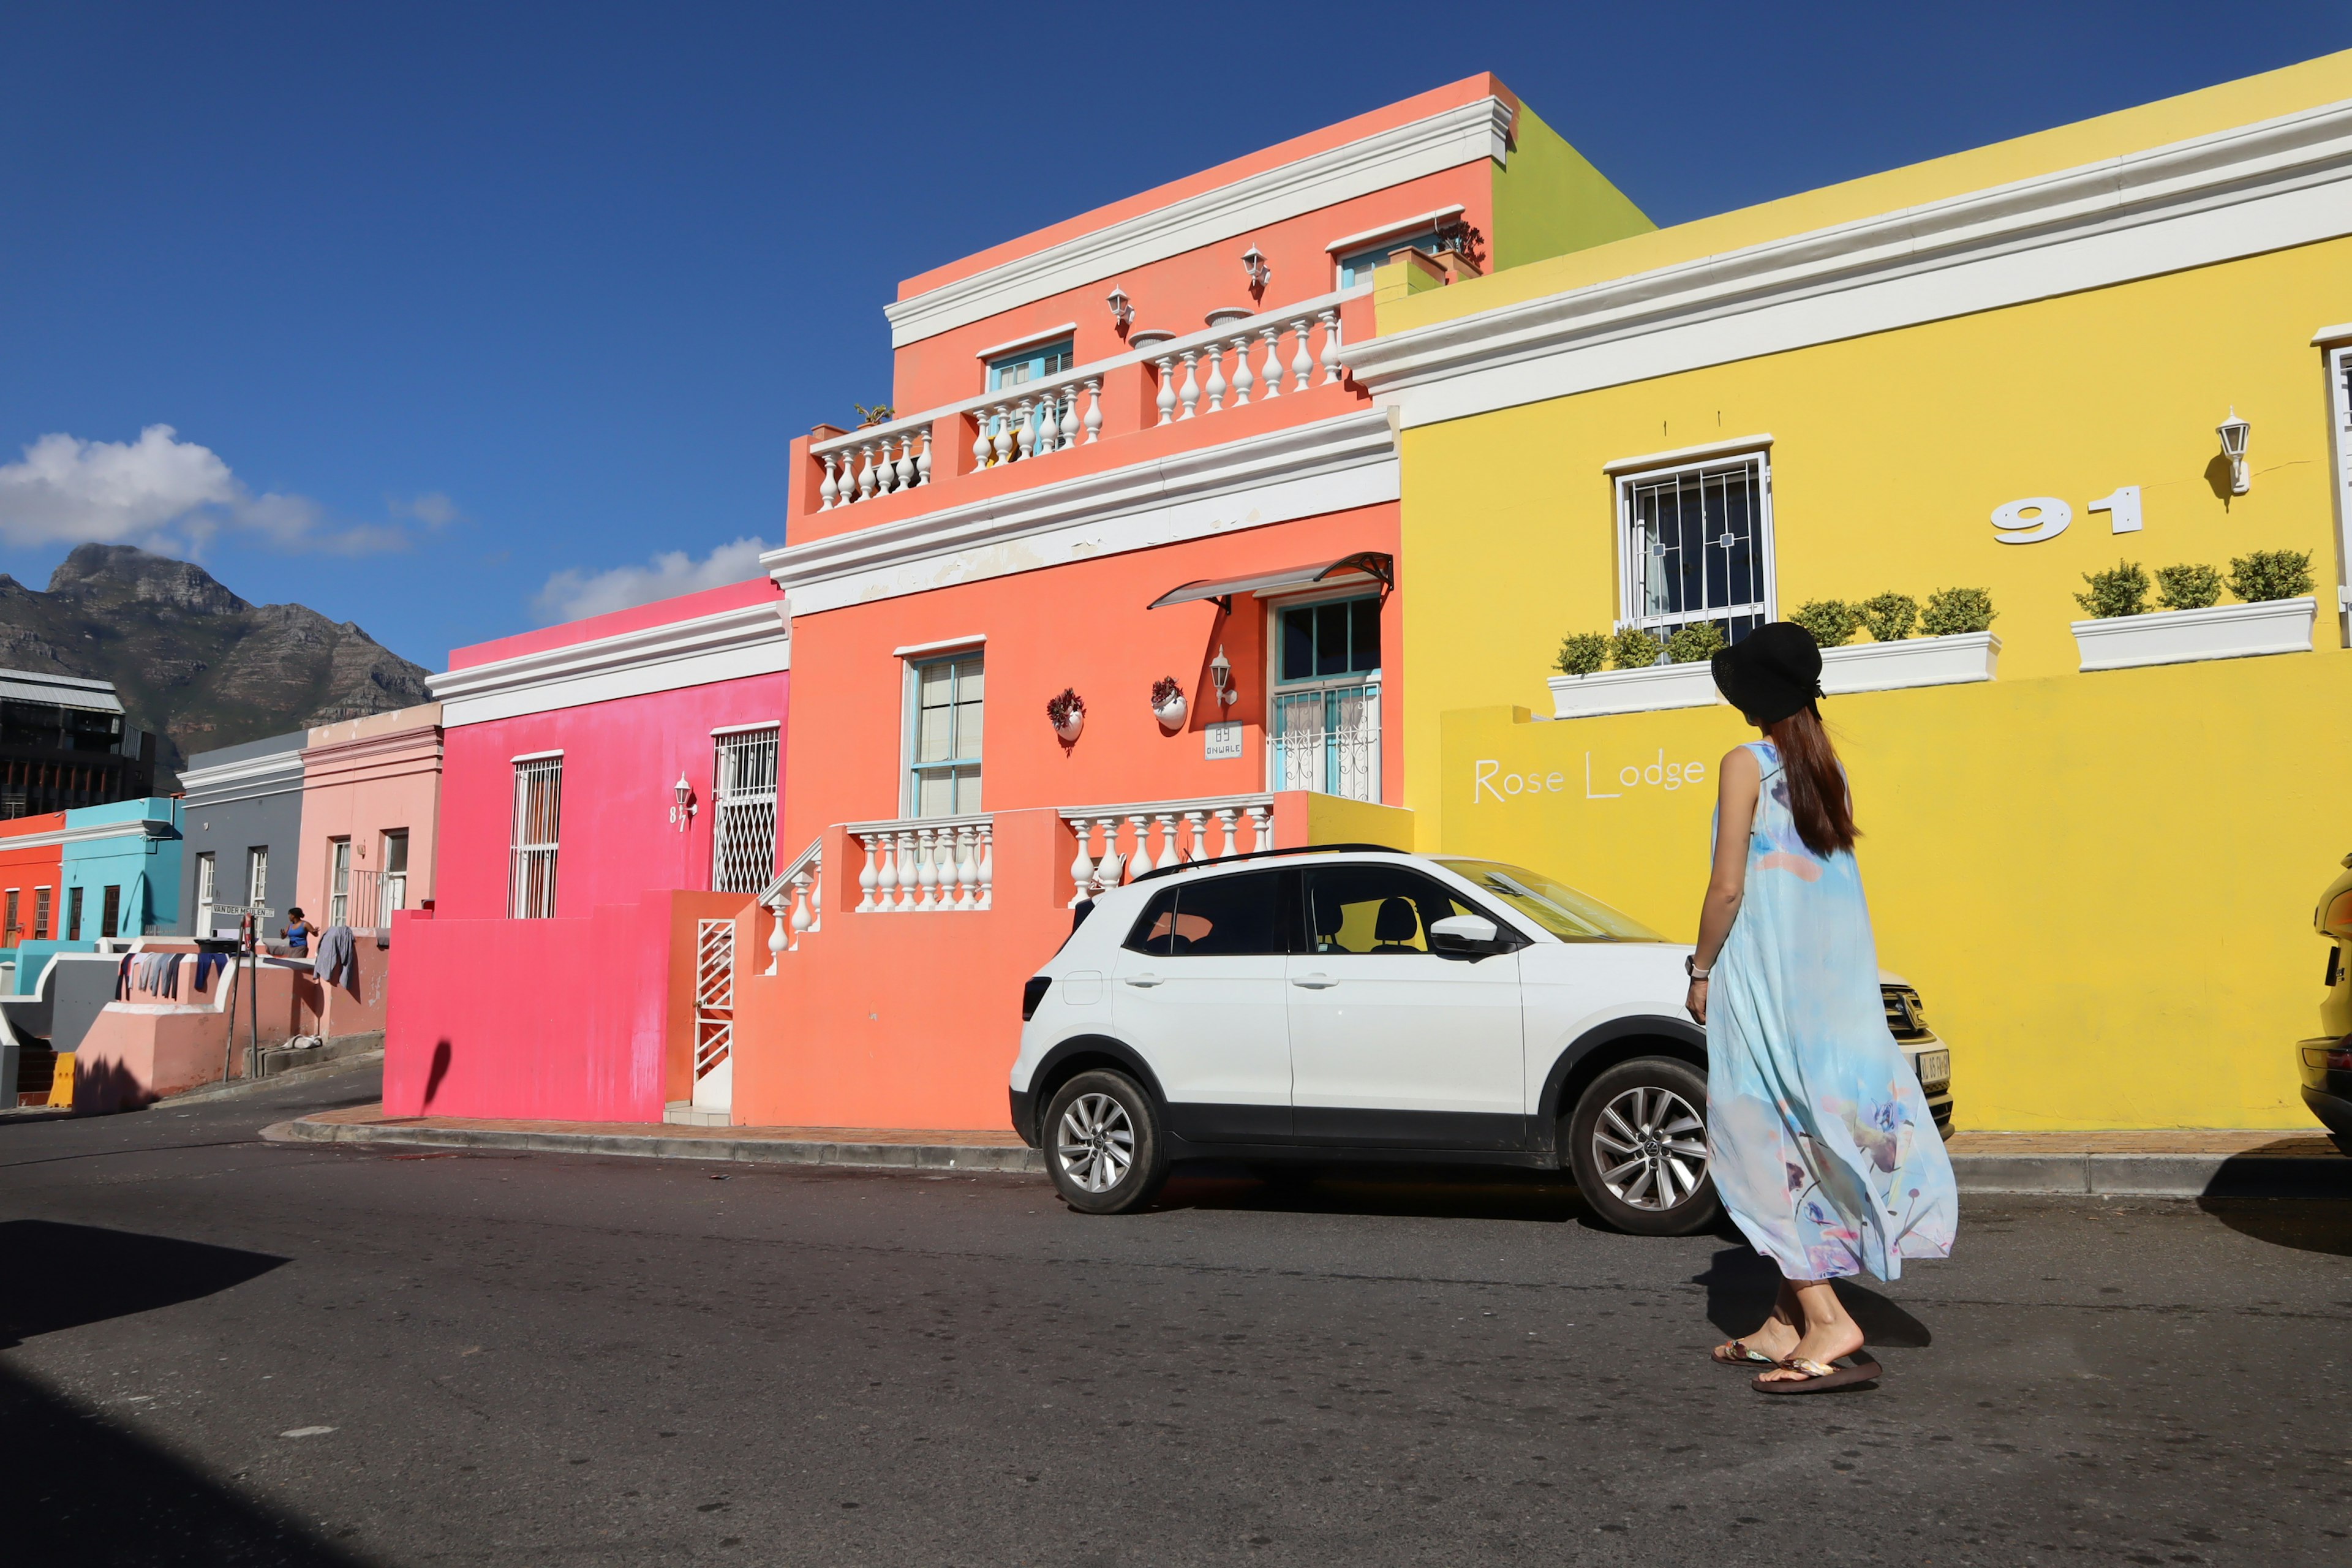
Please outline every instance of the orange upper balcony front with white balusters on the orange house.
[[849, 433], [818, 425], [795, 442], [795, 541], [1145, 461], [1143, 442], [1127, 449], [1138, 435], [1178, 451], [1364, 407], [1345, 341], [1350, 327], [1371, 329], [1369, 284], [1211, 320], [1185, 336], [1136, 331], [1124, 355], [924, 414]]

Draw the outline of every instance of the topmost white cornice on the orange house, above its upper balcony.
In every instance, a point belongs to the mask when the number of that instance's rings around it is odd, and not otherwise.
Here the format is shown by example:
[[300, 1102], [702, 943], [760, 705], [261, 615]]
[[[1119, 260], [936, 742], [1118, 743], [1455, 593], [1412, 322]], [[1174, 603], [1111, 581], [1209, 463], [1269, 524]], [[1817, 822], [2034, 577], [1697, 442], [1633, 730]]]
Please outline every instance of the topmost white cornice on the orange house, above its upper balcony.
[[1479, 158], [1508, 162], [1510, 118], [1510, 106], [1501, 99], [1461, 103], [1073, 235], [913, 299], [891, 301], [882, 306], [882, 315], [889, 317], [889, 346], [906, 348], [1000, 310], [1082, 289], [1127, 268], [1167, 261], [1439, 169], [1456, 169]]

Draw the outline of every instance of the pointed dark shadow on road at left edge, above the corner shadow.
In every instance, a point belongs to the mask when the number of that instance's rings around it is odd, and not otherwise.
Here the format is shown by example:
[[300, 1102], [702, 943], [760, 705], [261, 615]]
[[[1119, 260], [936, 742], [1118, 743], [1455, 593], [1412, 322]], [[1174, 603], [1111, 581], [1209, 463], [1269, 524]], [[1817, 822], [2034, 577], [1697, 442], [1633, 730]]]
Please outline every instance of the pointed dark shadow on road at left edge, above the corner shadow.
[[35, 1333], [103, 1324], [212, 1295], [287, 1258], [54, 1220], [0, 1222], [0, 1349]]

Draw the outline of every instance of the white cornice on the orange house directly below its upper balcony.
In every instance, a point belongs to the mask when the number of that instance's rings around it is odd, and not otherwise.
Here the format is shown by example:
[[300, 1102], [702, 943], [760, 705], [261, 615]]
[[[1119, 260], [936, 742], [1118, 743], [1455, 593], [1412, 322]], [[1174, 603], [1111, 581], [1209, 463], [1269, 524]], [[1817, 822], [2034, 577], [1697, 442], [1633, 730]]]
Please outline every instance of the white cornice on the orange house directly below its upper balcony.
[[807, 616], [1395, 498], [1388, 411], [1357, 409], [786, 545], [760, 564]]

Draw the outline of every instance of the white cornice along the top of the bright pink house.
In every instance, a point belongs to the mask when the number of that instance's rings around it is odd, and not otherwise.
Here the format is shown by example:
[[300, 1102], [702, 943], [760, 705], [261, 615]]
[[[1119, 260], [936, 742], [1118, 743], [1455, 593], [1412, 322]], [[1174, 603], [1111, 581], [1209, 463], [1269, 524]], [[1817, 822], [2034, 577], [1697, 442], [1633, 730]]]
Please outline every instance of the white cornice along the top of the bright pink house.
[[790, 668], [793, 635], [783, 602], [764, 599], [691, 621], [445, 670], [426, 684], [442, 703], [447, 731]]

